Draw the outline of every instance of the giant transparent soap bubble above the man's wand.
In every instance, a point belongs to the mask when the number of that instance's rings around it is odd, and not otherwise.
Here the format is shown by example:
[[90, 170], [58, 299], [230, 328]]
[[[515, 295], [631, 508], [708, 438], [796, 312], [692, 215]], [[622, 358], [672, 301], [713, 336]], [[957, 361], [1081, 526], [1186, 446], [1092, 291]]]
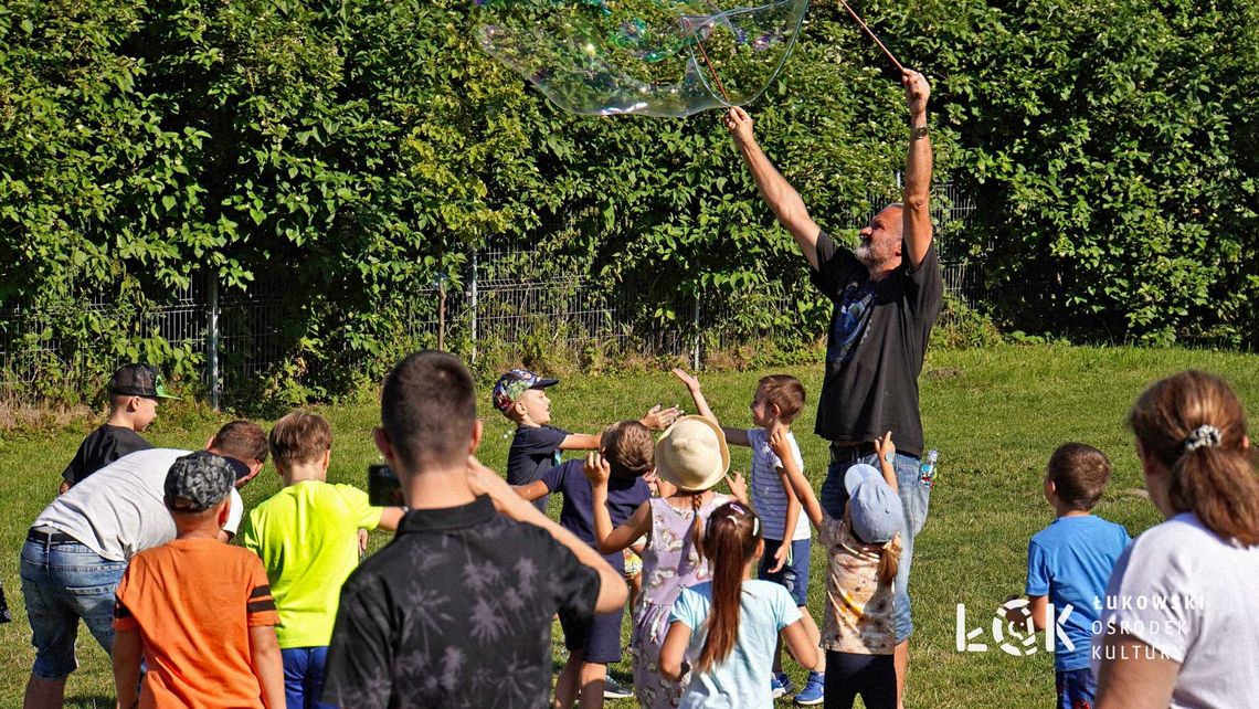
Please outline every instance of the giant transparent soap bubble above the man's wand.
[[689, 116], [755, 101], [808, 0], [476, 0], [481, 47], [574, 113]]

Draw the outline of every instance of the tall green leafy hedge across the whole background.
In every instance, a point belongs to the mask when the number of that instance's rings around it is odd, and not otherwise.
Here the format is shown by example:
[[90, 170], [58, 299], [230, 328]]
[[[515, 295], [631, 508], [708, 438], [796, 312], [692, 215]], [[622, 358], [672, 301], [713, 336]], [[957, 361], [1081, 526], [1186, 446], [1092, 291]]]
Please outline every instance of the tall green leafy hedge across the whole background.
[[[715, 112], [563, 113], [473, 40], [468, 0], [15, 0], [0, 8], [0, 302], [69, 314], [39, 337], [96, 372], [196, 353], [122, 320], [174, 288], [279, 285], [298, 397], [388, 363], [409, 293], [475, 246], [544, 244], [641, 293], [826, 309]], [[872, 0], [933, 78], [938, 165], [983, 209], [1024, 326], [1255, 337], [1259, 16], [1244, 0]], [[750, 107], [837, 229], [894, 193], [896, 76], [832, 0]], [[93, 296], [122, 307], [77, 307]], [[772, 298], [771, 298], [772, 300]], [[492, 334], [491, 334], [492, 336]], [[83, 364], [88, 363], [88, 364]]]

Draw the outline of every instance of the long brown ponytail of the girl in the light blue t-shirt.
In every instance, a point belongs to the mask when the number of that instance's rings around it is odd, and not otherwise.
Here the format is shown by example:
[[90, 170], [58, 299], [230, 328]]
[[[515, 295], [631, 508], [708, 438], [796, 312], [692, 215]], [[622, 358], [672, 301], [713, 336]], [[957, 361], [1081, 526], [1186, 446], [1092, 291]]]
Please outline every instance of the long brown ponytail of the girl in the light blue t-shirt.
[[739, 502], [726, 502], [713, 510], [704, 534], [704, 555], [713, 564], [713, 607], [708, 617], [708, 637], [695, 661], [703, 672], [725, 660], [734, 650], [739, 632], [739, 602], [743, 597], [743, 572], [757, 553], [760, 519]]

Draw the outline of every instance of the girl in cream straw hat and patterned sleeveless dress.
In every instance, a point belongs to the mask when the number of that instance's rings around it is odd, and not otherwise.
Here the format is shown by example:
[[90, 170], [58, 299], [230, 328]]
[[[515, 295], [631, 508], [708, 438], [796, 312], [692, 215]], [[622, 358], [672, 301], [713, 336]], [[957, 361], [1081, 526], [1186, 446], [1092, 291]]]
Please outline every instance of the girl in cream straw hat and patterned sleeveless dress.
[[619, 552], [647, 536], [642, 554], [643, 588], [633, 611], [633, 683], [638, 701], [648, 709], [671, 709], [690, 681], [676, 681], [660, 671], [660, 647], [669, 631], [669, 613], [682, 588], [708, 581], [708, 560], [700, 554], [700, 536], [709, 515], [730, 501], [713, 487], [726, 480], [735, 497], [748, 505], [743, 476], [726, 476], [730, 452], [721, 427], [699, 416], [677, 419], [656, 442], [656, 474], [661, 496], [643, 502], [623, 525], [613, 529], [607, 509], [611, 470], [590, 453], [585, 475], [594, 489], [594, 538], [599, 552]]

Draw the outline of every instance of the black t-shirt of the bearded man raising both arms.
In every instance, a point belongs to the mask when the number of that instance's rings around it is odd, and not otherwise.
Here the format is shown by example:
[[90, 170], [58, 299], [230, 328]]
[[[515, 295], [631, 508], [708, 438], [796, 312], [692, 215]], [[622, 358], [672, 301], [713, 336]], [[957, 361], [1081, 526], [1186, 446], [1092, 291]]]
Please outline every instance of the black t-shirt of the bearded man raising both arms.
[[813, 283], [835, 310], [815, 432], [828, 441], [864, 443], [891, 431], [898, 451], [922, 456], [918, 374], [944, 305], [935, 247], [915, 271], [906, 263], [870, 281], [851, 252], [821, 233], [817, 263]]

